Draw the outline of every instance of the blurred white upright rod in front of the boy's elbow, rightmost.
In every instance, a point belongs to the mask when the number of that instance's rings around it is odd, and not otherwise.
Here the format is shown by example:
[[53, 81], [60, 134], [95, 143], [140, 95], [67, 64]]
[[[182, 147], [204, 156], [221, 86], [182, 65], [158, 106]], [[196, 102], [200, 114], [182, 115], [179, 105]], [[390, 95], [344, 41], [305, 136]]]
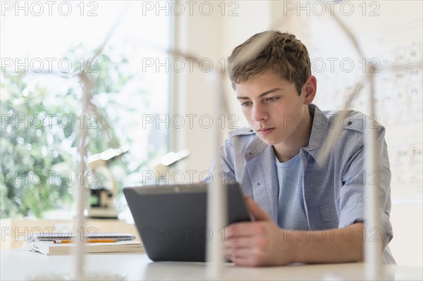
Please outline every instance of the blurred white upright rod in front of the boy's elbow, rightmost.
[[[367, 100], [367, 112], [369, 118], [374, 114], [374, 82], [369, 74], [370, 93]], [[379, 167], [376, 158], [376, 128], [372, 128], [372, 120], [366, 118], [366, 130], [364, 132], [364, 155], [365, 155], [365, 214], [366, 223], [364, 231], [364, 277], [366, 280], [379, 280], [381, 277], [381, 239], [384, 233], [379, 223]], [[374, 237], [374, 234], [377, 234]]]

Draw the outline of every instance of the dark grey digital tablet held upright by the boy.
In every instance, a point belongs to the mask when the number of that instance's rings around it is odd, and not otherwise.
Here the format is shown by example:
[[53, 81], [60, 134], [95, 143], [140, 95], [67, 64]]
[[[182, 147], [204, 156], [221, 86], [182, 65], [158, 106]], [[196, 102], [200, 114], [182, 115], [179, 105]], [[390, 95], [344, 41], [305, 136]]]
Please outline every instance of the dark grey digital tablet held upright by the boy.
[[[228, 224], [251, 220], [239, 185], [227, 185]], [[207, 227], [207, 185], [124, 187], [135, 226], [152, 261], [204, 261], [206, 242], [224, 230]]]

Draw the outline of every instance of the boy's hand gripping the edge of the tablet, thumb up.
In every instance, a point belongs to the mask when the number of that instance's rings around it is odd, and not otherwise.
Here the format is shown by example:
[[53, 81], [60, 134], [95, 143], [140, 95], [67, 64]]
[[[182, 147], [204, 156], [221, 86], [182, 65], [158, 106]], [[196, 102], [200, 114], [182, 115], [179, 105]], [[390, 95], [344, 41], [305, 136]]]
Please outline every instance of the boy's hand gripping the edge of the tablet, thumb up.
[[226, 227], [226, 257], [237, 266], [271, 266], [292, 262], [293, 250], [281, 230], [262, 208], [247, 197], [254, 222]]

